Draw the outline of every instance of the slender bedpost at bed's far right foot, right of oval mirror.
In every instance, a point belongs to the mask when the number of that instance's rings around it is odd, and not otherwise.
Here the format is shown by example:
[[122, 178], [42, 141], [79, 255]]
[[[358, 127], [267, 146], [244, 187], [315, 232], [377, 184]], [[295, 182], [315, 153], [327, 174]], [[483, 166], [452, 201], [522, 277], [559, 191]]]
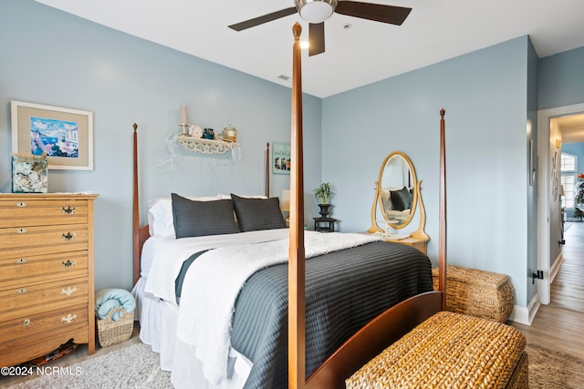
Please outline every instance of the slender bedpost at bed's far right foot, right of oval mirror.
[[438, 228], [438, 289], [442, 291], [442, 310], [446, 311], [446, 146], [444, 108], [440, 110], [440, 224]]

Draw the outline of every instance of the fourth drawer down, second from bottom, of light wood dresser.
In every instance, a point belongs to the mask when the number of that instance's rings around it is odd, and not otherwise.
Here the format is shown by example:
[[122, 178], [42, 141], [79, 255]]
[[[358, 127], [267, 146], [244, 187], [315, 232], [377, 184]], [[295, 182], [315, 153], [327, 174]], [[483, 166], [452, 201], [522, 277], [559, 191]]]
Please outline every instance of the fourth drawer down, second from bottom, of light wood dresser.
[[[93, 292], [93, 291], [91, 291]], [[88, 304], [88, 279], [26, 284], [0, 291], [0, 322], [26, 318], [40, 312]]]

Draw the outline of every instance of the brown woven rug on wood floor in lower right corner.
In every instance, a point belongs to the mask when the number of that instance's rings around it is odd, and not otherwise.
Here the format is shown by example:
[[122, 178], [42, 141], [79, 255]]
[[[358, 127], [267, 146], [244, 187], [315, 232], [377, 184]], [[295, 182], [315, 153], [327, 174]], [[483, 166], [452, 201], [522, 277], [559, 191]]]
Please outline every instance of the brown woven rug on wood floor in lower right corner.
[[584, 361], [539, 344], [527, 344], [526, 350], [529, 389], [584, 388]]

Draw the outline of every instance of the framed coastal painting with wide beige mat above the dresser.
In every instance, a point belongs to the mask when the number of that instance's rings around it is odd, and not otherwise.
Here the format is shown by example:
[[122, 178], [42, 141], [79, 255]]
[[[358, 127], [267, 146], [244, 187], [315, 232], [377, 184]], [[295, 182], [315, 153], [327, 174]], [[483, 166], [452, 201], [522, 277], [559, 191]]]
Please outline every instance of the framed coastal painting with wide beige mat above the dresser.
[[12, 152], [47, 154], [48, 169], [93, 170], [93, 113], [11, 101]]

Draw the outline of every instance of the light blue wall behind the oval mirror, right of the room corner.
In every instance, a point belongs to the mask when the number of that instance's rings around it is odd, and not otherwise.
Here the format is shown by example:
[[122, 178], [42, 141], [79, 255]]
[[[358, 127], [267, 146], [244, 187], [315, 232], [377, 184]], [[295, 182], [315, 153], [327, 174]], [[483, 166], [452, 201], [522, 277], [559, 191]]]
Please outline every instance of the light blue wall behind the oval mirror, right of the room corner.
[[[527, 36], [323, 101], [322, 178], [343, 231], [370, 227], [383, 159], [412, 159], [437, 258], [439, 110], [446, 109], [448, 261], [511, 276], [527, 306]], [[533, 77], [532, 77], [533, 78]], [[532, 81], [529, 87], [533, 87]], [[536, 126], [537, 127], [537, 126]], [[349, 156], [349, 157], [348, 157]], [[435, 263], [435, 262], [434, 262]], [[529, 279], [528, 282], [531, 282]]]

